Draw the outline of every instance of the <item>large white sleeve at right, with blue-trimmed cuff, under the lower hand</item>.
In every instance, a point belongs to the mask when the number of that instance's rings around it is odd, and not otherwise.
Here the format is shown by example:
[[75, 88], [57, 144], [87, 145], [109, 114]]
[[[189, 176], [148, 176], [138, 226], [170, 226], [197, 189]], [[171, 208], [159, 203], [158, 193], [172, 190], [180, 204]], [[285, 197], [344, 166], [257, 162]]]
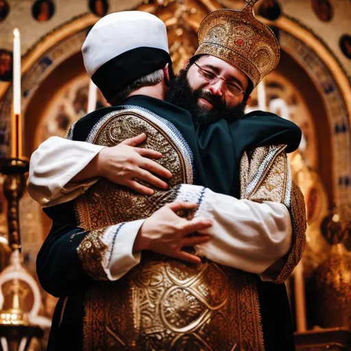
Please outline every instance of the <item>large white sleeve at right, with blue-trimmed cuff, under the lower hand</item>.
[[189, 184], [181, 186], [177, 200], [199, 202], [195, 217], [213, 221], [200, 231], [211, 239], [196, 245], [199, 256], [269, 280], [269, 267], [291, 249], [291, 218], [284, 204], [236, 199]]

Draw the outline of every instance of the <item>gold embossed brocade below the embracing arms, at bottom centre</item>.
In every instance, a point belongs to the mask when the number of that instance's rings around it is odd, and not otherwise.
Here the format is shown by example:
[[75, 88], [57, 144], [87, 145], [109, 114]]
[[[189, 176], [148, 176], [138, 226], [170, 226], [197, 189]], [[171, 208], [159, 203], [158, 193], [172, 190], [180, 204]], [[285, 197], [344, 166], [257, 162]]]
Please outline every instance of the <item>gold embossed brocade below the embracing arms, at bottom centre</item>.
[[94, 337], [84, 350], [264, 350], [255, 279], [144, 256], [121, 280], [88, 292], [84, 334]]

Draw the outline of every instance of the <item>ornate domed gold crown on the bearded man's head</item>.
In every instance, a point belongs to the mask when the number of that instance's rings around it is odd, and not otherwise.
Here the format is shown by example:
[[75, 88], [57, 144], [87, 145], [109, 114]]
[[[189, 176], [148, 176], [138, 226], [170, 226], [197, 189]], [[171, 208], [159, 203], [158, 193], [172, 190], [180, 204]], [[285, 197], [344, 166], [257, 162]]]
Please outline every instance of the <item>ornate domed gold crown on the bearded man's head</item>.
[[280, 60], [278, 40], [271, 29], [254, 17], [258, 0], [247, 0], [243, 10], [210, 12], [199, 26], [195, 56], [208, 54], [241, 69], [254, 87]]

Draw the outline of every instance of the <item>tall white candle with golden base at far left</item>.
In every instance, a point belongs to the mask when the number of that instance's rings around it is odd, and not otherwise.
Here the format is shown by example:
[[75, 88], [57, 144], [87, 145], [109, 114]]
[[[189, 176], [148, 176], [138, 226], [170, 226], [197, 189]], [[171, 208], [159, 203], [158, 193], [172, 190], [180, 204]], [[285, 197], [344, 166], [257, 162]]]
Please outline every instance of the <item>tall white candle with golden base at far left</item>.
[[21, 39], [19, 29], [14, 29], [13, 49], [13, 115], [11, 133], [11, 156], [22, 157], [22, 120], [21, 120]]

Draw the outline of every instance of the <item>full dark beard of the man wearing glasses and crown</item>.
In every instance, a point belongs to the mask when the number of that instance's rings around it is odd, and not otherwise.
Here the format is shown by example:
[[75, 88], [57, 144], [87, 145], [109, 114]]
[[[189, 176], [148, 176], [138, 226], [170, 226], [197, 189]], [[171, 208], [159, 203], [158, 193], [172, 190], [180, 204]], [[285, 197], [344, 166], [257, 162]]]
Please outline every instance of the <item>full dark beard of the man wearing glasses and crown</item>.
[[[194, 125], [207, 127], [220, 119], [228, 122], [236, 121], [244, 116], [247, 99], [243, 99], [241, 104], [234, 108], [227, 108], [226, 101], [219, 96], [212, 95], [202, 89], [193, 90], [186, 79], [190, 66], [180, 71], [179, 75], [171, 80], [169, 90], [166, 95], [166, 101], [184, 108], [191, 113]], [[213, 104], [213, 109], [202, 108], [197, 104], [197, 99], [204, 97]]]

